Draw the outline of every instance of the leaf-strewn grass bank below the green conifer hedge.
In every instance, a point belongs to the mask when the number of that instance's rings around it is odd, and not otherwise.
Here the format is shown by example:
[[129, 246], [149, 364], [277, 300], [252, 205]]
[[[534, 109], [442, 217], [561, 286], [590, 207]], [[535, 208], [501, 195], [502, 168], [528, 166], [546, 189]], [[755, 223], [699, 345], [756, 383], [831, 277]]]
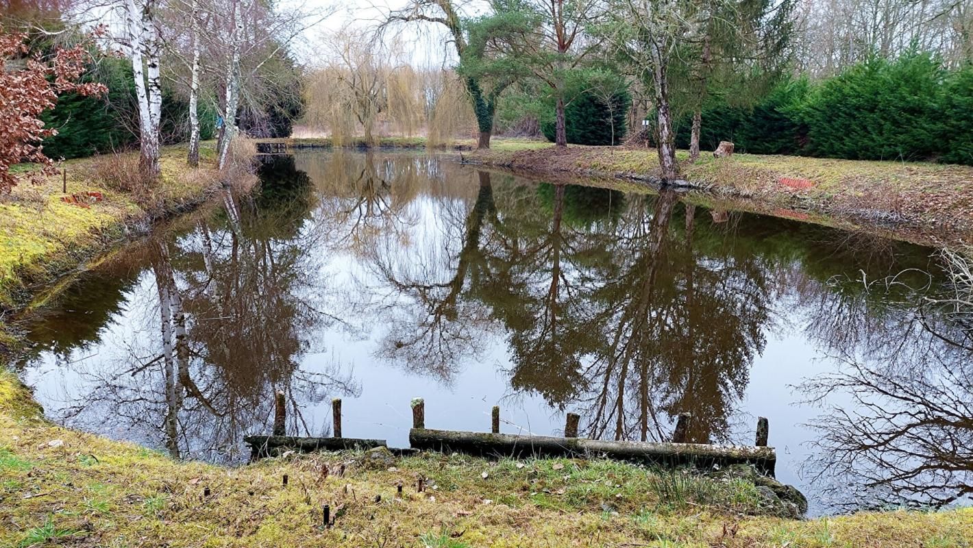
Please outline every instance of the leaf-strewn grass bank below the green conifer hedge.
[[[546, 144], [546, 143], [544, 143]], [[911, 239], [964, 245], [973, 236], [973, 166], [677, 153], [688, 186], [715, 197], [745, 199], [762, 212], [831, 217], [864, 228], [902, 228]], [[656, 181], [655, 149], [553, 146], [518, 142], [463, 153], [463, 160], [541, 174]]]

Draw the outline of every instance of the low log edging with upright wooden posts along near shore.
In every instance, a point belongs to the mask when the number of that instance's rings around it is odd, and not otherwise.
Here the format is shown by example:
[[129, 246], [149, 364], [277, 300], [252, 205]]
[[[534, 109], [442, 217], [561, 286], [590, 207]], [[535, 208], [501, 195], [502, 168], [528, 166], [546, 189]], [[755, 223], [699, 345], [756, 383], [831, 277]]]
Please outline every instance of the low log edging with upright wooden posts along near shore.
[[[282, 425], [284, 406], [279, 405], [278, 395], [274, 424]], [[248, 436], [255, 458], [280, 455], [283, 451], [340, 451], [343, 449], [372, 449], [386, 447], [384, 440], [342, 438], [340, 399], [332, 402], [334, 432], [330, 438], [296, 436]], [[631, 442], [592, 440], [578, 437], [580, 417], [567, 414], [564, 437], [535, 436], [500, 433], [500, 408], [494, 406], [490, 416], [490, 432], [437, 430], [425, 427], [425, 402], [421, 398], [412, 401], [413, 428], [409, 431], [409, 443], [413, 450], [458, 452], [482, 457], [607, 457], [665, 466], [695, 466], [702, 469], [746, 463], [758, 472], [774, 476], [776, 452], [767, 447], [769, 421], [757, 420], [755, 445], [721, 446], [685, 443], [692, 417], [682, 414], [670, 442]], [[276, 428], [275, 428], [276, 430]], [[282, 434], [279, 430], [276, 434]]]

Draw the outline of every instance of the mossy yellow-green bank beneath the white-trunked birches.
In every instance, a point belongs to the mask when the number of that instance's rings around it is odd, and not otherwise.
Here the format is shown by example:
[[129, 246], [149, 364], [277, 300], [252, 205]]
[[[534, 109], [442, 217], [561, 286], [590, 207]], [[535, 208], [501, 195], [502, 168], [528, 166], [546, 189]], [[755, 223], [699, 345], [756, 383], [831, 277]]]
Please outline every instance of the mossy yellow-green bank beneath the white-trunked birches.
[[[10, 316], [22, 310], [59, 278], [88, 263], [126, 237], [146, 232], [162, 217], [186, 211], [221, 185], [213, 164], [214, 143], [203, 143], [199, 168], [186, 164], [186, 147], [162, 150], [162, 176], [146, 190], [124, 190], [105, 180], [118, 168], [109, 163], [136, 161], [137, 153], [71, 160], [62, 176], [41, 185], [24, 183], [0, 201], [0, 352], [14, 343]], [[245, 159], [249, 162], [249, 159]], [[18, 165], [18, 170], [32, 165]], [[119, 168], [124, 175], [124, 168]], [[100, 196], [94, 201], [90, 195]], [[72, 195], [82, 204], [64, 201]], [[43, 300], [43, 299], [42, 299]]]

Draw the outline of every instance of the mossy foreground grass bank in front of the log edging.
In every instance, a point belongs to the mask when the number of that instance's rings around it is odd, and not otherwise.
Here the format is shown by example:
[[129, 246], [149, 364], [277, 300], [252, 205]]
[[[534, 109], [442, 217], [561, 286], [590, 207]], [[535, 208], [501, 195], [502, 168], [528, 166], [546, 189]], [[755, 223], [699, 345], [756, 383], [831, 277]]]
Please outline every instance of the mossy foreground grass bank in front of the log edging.
[[0, 373], [0, 546], [973, 545], [973, 510], [793, 521], [752, 515], [755, 501], [743, 481], [607, 460], [180, 462], [53, 425]]

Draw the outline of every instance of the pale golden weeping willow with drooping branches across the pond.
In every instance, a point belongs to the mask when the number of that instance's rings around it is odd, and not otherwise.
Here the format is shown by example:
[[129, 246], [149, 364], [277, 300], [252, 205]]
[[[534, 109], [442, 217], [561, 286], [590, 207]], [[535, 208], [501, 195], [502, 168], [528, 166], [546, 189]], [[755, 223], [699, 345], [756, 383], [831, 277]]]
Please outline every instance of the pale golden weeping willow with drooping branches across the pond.
[[417, 69], [400, 42], [380, 44], [341, 32], [326, 40], [330, 58], [306, 77], [305, 123], [336, 144], [361, 136], [414, 136], [428, 131], [437, 144], [472, 126], [472, 113], [455, 74]]

